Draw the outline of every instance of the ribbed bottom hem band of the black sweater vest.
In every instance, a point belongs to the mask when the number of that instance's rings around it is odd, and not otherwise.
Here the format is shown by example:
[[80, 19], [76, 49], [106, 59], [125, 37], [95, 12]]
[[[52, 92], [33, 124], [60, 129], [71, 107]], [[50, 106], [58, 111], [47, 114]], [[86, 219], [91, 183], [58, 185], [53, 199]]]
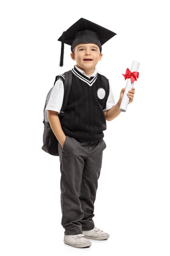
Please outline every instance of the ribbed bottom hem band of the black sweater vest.
[[98, 141], [98, 140], [102, 140], [103, 137], [104, 137], [103, 131], [99, 134], [87, 134], [87, 133], [84, 133], [84, 132], [81, 132], [81, 131], [79, 131], [79, 132], [70, 131], [65, 126], [62, 126], [62, 130], [63, 130], [65, 135], [73, 137], [78, 141], [79, 141], [79, 139], [80, 140], [85, 140], [85, 141], [88, 141], [88, 140]]

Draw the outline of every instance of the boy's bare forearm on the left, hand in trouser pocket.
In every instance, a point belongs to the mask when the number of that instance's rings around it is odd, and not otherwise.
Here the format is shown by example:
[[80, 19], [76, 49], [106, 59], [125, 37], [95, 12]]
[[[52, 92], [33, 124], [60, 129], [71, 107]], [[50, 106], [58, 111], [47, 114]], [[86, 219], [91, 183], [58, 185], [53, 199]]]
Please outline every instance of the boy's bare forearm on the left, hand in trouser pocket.
[[58, 112], [53, 110], [48, 110], [47, 117], [48, 117], [48, 121], [50, 123], [51, 129], [54, 132], [54, 135], [56, 136], [61, 146], [63, 146], [66, 136], [61, 128]]

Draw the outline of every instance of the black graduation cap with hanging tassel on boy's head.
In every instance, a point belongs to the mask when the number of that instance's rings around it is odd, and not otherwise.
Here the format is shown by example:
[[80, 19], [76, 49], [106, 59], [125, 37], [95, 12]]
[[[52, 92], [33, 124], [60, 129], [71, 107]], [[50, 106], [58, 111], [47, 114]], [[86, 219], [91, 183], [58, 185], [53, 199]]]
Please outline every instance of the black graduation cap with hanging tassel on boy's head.
[[58, 41], [61, 41], [61, 55], [59, 66], [63, 66], [64, 43], [71, 45], [71, 51], [77, 44], [96, 44], [100, 52], [102, 52], [102, 45], [111, 39], [116, 33], [102, 26], [97, 25], [90, 20], [80, 18], [69, 29], [64, 31]]

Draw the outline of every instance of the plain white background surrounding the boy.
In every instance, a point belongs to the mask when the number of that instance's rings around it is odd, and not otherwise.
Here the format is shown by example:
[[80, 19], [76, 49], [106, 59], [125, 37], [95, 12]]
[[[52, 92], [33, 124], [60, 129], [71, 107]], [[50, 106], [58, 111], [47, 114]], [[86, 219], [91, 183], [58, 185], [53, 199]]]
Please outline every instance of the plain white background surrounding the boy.
[[[170, 255], [168, 1], [3, 1], [0, 4], [0, 254]], [[139, 61], [133, 102], [107, 122], [89, 248], [64, 244], [59, 157], [42, 151], [43, 108], [55, 76], [75, 63], [57, 39], [79, 18], [112, 30], [97, 67], [115, 101]], [[80, 251], [81, 250], [81, 251]]]

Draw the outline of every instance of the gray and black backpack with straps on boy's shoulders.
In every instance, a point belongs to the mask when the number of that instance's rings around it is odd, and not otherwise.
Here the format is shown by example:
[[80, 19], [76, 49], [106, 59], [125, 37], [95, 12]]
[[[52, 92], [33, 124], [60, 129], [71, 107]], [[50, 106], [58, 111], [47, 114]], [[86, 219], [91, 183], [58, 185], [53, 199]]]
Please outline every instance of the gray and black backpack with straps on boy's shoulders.
[[[99, 73], [98, 73], [99, 74]], [[64, 97], [63, 97], [63, 102], [62, 102], [62, 107], [60, 112], [58, 113], [59, 120], [61, 121], [62, 117], [64, 116], [64, 110], [68, 102], [68, 96], [70, 93], [70, 88], [71, 88], [71, 82], [72, 82], [72, 71], [66, 71], [64, 73], [65, 80], [64, 80]], [[106, 87], [109, 89], [109, 81], [108, 79], [99, 74], [101, 76], [103, 82], [105, 83]], [[55, 82], [59, 79], [59, 76], [56, 76]], [[54, 87], [54, 86], [53, 86]], [[46, 105], [48, 104], [48, 100], [51, 95], [51, 91], [53, 90], [53, 87], [48, 91], [48, 94], [46, 96], [45, 100], [45, 106], [44, 106], [44, 120], [42, 121], [44, 124], [44, 132], [43, 132], [43, 146], [42, 150], [47, 152], [48, 154], [54, 155], [54, 156], [59, 156], [59, 151], [58, 151], [58, 143], [59, 141], [57, 140], [54, 132], [51, 129], [50, 123], [48, 121], [47, 117], [47, 111], [45, 111]]]

